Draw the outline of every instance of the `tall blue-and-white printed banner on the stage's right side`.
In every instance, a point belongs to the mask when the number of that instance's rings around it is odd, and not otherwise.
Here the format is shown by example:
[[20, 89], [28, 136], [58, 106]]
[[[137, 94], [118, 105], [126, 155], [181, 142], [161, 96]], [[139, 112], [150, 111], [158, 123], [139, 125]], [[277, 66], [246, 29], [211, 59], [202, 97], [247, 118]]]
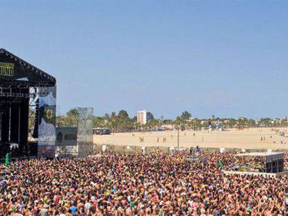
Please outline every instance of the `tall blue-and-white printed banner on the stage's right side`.
[[38, 156], [54, 158], [56, 142], [56, 86], [39, 88]]

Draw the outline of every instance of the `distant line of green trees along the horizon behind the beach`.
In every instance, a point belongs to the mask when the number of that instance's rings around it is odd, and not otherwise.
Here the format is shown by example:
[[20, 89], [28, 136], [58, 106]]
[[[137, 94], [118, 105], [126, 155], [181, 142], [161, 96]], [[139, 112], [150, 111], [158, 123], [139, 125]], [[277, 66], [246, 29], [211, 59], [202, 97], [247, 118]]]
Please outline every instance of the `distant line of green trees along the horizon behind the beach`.
[[[193, 129], [201, 130], [202, 128], [221, 128], [223, 130], [228, 128], [251, 128], [251, 127], [282, 127], [288, 126], [287, 118], [269, 117], [261, 118], [258, 120], [249, 119], [246, 117], [235, 118], [220, 118], [212, 115], [207, 119], [198, 119], [197, 117], [191, 118], [191, 113], [184, 111], [175, 119], [160, 119], [152, 117], [147, 124], [139, 124], [137, 117], [129, 117], [126, 110], [120, 110], [118, 113], [106, 113], [104, 116], [93, 116], [94, 128], [109, 128], [112, 132], [129, 132], [129, 131], [155, 131], [163, 128], [181, 130]], [[72, 109], [66, 113], [56, 117], [57, 126], [77, 126], [78, 113], [76, 109]]]

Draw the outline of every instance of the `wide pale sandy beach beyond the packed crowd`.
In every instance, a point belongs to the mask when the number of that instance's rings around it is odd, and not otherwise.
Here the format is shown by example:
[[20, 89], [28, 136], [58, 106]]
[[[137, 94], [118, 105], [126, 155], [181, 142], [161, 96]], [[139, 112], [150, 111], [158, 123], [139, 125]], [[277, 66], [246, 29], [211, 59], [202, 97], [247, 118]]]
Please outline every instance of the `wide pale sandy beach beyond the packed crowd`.
[[[288, 128], [279, 129], [288, 132]], [[140, 138], [143, 138], [142, 142]], [[157, 142], [158, 138], [159, 141]], [[166, 138], [166, 141], [163, 138]], [[261, 140], [261, 138], [265, 138], [265, 140]], [[120, 146], [177, 147], [177, 131], [94, 135], [94, 143]], [[230, 131], [211, 132], [179, 131], [179, 147], [196, 147], [197, 145], [211, 148], [287, 150], [288, 138], [280, 136], [279, 133], [276, 134], [272, 128], [230, 129]]]

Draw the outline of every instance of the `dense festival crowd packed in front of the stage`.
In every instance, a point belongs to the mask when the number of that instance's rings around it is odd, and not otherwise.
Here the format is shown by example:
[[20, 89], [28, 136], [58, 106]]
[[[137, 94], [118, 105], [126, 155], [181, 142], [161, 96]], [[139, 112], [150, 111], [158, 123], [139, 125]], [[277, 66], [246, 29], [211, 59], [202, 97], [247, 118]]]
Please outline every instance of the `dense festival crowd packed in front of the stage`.
[[233, 153], [189, 156], [106, 153], [2, 165], [0, 215], [287, 215], [287, 176], [223, 174]]

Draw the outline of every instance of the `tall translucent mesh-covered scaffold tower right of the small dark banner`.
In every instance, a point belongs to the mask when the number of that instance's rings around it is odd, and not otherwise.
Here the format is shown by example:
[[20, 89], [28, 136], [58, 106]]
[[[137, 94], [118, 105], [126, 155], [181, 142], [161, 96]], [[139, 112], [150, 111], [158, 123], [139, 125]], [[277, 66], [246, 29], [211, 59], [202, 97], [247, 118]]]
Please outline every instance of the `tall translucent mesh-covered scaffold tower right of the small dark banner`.
[[78, 108], [78, 155], [93, 152], [93, 108]]

